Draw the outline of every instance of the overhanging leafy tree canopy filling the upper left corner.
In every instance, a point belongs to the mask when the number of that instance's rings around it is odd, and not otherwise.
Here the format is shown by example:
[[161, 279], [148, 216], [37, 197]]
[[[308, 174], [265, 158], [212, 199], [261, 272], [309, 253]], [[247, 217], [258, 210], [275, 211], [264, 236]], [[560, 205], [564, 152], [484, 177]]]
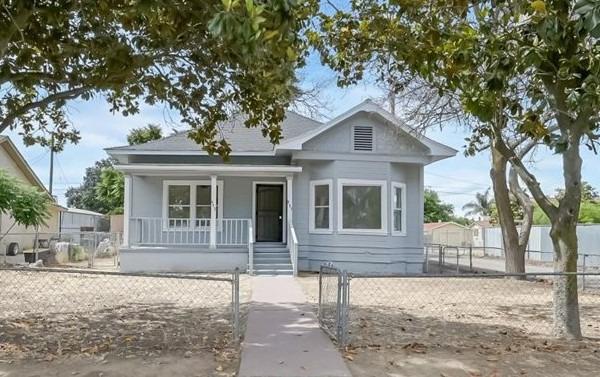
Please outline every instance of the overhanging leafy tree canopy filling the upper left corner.
[[277, 142], [315, 3], [3, 1], [0, 132], [60, 150], [79, 139], [68, 101], [101, 96], [124, 115], [166, 104], [209, 152], [229, 152], [217, 125], [234, 111]]

